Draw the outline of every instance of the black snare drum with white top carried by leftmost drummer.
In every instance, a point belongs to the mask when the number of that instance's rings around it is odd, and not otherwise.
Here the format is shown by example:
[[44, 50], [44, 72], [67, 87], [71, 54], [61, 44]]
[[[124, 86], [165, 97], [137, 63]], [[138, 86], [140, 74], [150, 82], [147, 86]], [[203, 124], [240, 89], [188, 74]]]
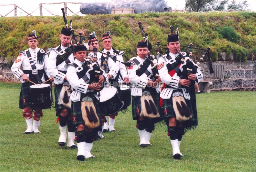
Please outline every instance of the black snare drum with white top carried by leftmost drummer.
[[39, 106], [42, 109], [51, 108], [52, 85], [50, 84], [36, 84], [29, 87], [30, 104]]

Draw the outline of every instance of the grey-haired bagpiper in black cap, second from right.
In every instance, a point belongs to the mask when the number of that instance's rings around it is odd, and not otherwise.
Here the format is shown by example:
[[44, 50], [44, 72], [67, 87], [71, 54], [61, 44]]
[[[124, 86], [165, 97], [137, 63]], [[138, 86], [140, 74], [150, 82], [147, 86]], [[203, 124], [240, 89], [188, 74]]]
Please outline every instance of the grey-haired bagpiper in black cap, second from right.
[[[159, 93], [156, 90], [157, 82], [161, 82], [161, 79], [156, 79], [155, 82], [150, 80], [150, 76], [152, 76], [153, 72], [151, 69], [150, 59], [146, 58], [148, 56], [148, 48], [147, 43], [142, 41], [137, 44], [137, 57], [133, 57], [130, 59], [130, 62], [133, 63], [130, 67], [128, 67], [128, 76], [129, 80], [132, 84], [131, 95], [132, 95], [132, 119], [137, 120], [137, 129], [140, 136], [140, 146], [146, 147], [147, 145], [151, 145], [149, 140], [152, 135], [152, 131], [154, 130], [155, 122], [159, 121], [159, 118], [148, 118], [141, 115], [142, 111], [147, 111], [146, 109], [142, 109], [141, 107], [141, 96], [147, 91], [151, 94], [155, 107], [158, 108], [159, 103]], [[157, 63], [157, 60], [154, 59], [153, 63]], [[140, 74], [139, 74], [140, 73]], [[150, 108], [154, 107], [150, 105]]]

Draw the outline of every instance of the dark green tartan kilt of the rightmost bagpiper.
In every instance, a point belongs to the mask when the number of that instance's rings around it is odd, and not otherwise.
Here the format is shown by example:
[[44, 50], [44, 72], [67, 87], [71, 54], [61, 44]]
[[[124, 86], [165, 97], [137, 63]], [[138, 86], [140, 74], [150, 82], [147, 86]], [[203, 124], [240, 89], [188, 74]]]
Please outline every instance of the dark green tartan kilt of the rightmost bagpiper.
[[[175, 93], [176, 91], [180, 91], [182, 93], [182, 90], [174, 90], [172, 94]], [[182, 126], [185, 128], [185, 130], [190, 130], [191, 128], [194, 128], [195, 126], [197, 126], [196, 94], [195, 94], [195, 91], [194, 93], [193, 91], [189, 93], [190, 93], [190, 100], [186, 98], [184, 99], [186, 101], [188, 108], [190, 109], [190, 112], [193, 114], [193, 117], [187, 121], [182, 122]], [[172, 105], [172, 96], [169, 99], [163, 99], [163, 101], [164, 101], [164, 105], [160, 107], [159, 111], [161, 111], [161, 113], [164, 114], [164, 117], [166, 118], [166, 123], [168, 123], [167, 119], [176, 117], [173, 109], [173, 105]]]

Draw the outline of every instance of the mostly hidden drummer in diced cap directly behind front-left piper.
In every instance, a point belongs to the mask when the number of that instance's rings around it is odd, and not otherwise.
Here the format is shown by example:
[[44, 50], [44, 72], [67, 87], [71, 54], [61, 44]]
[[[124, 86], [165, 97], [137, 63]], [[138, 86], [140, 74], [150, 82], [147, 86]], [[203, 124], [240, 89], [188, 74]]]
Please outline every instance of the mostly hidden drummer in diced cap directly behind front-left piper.
[[[97, 58], [97, 63], [98, 63], [99, 65], [101, 65], [101, 60], [104, 60], [104, 59], [101, 58], [102, 53], [101, 53], [101, 52], [98, 52], [98, 51], [99, 51], [99, 48], [100, 48], [99, 42], [98, 42], [96, 36], [93, 36], [93, 37], [91, 37], [91, 38], [89, 38], [89, 39], [90, 39], [90, 40], [88, 40], [88, 42], [89, 42], [89, 41], [91, 42], [91, 44], [90, 44], [90, 50], [93, 50], [94, 47], [97, 48], [97, 52], [96, 52], [96, 53], [97, 53], [97, 57], [99, 57], [99, 58]], [[91, 51], [91, 52], [88, 54], [88, 57], [90, 57], [91, 59], [93, 59], [93, 58], [94, 58], [94, 52]], [[106, 66], [107, 66], [107, 67], [106, 67], [105, 72], [108, 72], [108, 78], [116, 78], [119, 68], [117, 67], [117, 65], [116, 65], [116, 63], [113, 61], [113, 59], [108, 58], [108, 60], [107, 60], [107, 65], [106, 65]], [[104, 115], [101, 115], [101, 118], [102, 118], [102, 119], [101, 119], [101, 120], [102, 120], [102, 123], [103, 123], [104, 126], [105, 126], [105, 130], [107, 130], [107, 129], [108, 129], [107, 118], [106, 118], [106, 116], [104, 116]], [[103, 129], [104, 129], [104, 127], [102, 126], [102, 131], [103, 131]], [[102, 137], [104, 137], [104, 136], [102, 135]]]

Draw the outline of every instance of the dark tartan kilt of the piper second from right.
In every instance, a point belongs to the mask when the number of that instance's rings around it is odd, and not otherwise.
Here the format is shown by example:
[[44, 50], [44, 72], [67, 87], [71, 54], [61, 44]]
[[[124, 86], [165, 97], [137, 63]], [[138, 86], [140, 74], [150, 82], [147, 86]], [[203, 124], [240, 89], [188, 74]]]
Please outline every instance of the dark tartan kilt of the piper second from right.
[[[143, 89], [142, 92], [143, 91], [145, 91], [145, 90]], [[150, 94], [156, 104], [156, 107], [159, 111], [159, 100], [160, 100], [159, 94], [156, 92], [155, 89], [147, 89], [147, 91], [150, 92]], [[140, 112], [141, 112], [140, 97], [141, 96], [132, 96], [132, 119], [133, 120], [139, 120], [139, 118], [140, 118]], [[153, 118], [154, 123], [162, 120], [161, 116], [163, 116], [163, 113], [161, 113], [159, 111], [159, 114], [160, 114], [160, 118]]]

